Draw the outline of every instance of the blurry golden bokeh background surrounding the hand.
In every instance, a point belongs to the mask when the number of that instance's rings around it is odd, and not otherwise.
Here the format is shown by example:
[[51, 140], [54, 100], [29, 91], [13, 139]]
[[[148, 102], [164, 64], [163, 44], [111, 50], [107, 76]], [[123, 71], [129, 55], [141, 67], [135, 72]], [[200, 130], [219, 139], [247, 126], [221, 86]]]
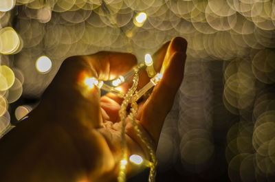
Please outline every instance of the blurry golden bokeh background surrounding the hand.
[[182, 36], [185, 77], [157, 181], [275, 181], [275, 1], [1, 0], [0, 28], [0, 131], [32, 110], [65, 58], [106, 50], [143, 62]]

